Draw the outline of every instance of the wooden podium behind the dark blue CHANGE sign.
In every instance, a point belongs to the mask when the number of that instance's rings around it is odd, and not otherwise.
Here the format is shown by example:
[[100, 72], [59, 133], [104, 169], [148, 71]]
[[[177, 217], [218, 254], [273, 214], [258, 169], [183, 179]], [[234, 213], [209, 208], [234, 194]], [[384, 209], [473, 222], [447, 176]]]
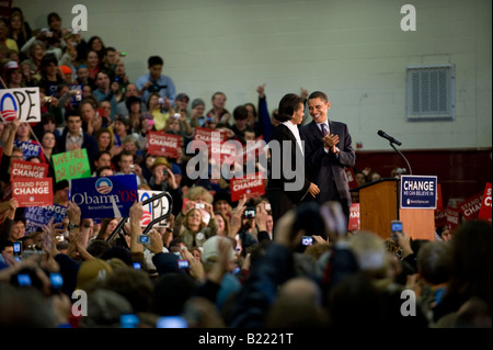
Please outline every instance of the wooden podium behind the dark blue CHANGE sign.
[[382, 239], [390, 238], [390, 222], [402, 222], [403, 230], [413, 239], [435, 240], [435, 210], [401, 208], [400, 180], [383, 178], [352, 191], [359, 192], [359, 228]]

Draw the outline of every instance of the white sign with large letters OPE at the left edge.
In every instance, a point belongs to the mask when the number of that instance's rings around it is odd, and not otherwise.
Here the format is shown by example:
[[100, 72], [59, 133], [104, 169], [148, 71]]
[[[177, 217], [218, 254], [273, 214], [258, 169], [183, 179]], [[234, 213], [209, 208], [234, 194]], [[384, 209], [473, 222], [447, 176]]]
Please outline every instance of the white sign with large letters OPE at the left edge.
[[0, 90], [0, 114], [4, 122], [41, 122], [39, 88]]

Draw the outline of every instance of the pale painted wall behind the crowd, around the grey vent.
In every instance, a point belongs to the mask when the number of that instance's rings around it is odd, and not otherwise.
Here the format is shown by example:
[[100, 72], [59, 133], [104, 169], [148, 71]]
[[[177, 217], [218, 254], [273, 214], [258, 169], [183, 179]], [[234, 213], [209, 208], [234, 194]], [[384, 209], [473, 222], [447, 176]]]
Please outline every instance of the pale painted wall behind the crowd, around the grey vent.
[[[415, 0], [416, 31], [400, 27], [394, 0], [15, 0], [32, 27], [55, 11], [70, 27], [72, 7], [88, 9], [88, 32], [126, 52], [131, 80], [160, 55], [177, 92], [210, 108], [223, 91], [227, 108], [256, 103], [266, 83], [270, 110], [287, 92], [323, 90], [330, 117], [348, 124], [363, 149], [388, 149], [383, 129], [401, 149], [492, 145], [492, 3]], [[405, 67], [456, 66], [456, 118], [405, 120]], [[309, 121], [309, 116], [307, 121]]]

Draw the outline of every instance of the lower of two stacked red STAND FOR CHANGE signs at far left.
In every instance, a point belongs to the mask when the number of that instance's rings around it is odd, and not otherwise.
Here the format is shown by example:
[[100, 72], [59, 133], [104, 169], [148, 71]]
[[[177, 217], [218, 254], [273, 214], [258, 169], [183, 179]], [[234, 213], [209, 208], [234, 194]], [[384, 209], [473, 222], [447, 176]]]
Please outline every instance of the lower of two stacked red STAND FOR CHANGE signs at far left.
[[51, 178], [13, 179], [12, 197], [18, 200], [19, 207], [53, 205]]

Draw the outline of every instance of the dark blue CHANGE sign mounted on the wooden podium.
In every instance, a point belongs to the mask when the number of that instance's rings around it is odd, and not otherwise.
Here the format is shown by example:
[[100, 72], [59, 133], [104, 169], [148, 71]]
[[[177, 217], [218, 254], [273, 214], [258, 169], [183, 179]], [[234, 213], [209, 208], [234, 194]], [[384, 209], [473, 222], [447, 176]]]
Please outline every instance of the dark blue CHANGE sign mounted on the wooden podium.
[[436, 208], [436, 177], [402, 176], [401, 208]]

